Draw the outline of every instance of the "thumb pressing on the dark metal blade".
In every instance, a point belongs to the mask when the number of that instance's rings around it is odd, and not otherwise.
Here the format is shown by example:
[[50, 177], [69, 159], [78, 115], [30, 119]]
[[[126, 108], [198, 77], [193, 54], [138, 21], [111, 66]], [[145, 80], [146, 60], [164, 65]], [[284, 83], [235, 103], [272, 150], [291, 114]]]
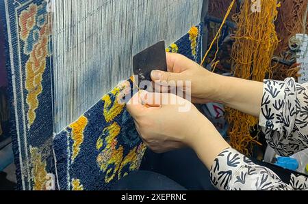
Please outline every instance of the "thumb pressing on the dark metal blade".
[[179, 73], [173, 73], [173, 72], [162, 72], [159, 70], [153, 70], [151, 72], [151, 78], [156, 83], [175, 83], [177, 84], [177, 81], [182, 80], [181, 74]]

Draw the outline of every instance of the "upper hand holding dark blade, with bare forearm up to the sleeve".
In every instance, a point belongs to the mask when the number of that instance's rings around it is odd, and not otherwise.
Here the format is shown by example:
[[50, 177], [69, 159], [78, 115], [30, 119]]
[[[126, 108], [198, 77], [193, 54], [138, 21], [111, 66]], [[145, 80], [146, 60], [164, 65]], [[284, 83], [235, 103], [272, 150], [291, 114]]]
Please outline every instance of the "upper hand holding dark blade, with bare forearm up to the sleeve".
[[180, 83], [190, 81], [190, 87], [184, 86], [183, 92], [189, 90], [193, 103], [219, 102], [259, 117], [263, 83], [214, 74], [183, 55], [167, 53], [166, 57], [168, 72], [151, 73], [155, 84], [161, 85], [159, 89], [155, 85], [156, 91], [166, 92], [167, 87], [175, 86], [179, 89]]

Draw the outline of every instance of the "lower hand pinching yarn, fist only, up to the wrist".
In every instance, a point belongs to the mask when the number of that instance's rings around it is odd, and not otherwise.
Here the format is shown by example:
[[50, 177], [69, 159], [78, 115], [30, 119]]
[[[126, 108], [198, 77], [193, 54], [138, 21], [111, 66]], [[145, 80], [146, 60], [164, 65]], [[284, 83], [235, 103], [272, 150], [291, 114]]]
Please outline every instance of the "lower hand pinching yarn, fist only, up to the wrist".
[[192, 103], [169, 93], [140, 91], [127, 110], [144, 143], [157, 153], [194, 147], [199, 132], [209, 124]]

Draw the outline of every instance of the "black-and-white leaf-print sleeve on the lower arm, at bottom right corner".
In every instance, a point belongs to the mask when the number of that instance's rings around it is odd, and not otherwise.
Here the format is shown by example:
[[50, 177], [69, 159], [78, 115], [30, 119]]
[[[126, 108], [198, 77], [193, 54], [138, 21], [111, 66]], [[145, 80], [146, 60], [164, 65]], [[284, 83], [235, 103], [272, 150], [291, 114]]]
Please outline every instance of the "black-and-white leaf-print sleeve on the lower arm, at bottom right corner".
[[292, 176], [285, 184], [273, 171], [231, 148], [218, 155], [210, 177], [218, 190], [308, 190], [307, 178]]

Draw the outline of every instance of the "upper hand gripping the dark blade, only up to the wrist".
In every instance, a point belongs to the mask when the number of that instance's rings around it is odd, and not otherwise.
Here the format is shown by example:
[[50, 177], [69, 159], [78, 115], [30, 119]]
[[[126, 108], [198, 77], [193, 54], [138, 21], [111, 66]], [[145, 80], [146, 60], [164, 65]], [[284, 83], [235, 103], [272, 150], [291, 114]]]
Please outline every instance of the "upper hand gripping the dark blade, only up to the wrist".
[[[209, 72], [194, 61], [175, 53], [166, 53], [168, 72], [153, 71], [151, 78], [155, 86], [159, 86], [160, 91], [166, 92], [169, 87], [179, 85], [179, 81], [183, 83], [183, 91], [191, 91], [192, 102], [195, 104], [205, 104], [214, 102], [212, 87], [212, 77], [214, 73]], [[187, 81], [190, 81], [191, 87], [187, 86]]]

